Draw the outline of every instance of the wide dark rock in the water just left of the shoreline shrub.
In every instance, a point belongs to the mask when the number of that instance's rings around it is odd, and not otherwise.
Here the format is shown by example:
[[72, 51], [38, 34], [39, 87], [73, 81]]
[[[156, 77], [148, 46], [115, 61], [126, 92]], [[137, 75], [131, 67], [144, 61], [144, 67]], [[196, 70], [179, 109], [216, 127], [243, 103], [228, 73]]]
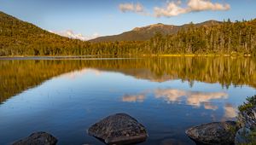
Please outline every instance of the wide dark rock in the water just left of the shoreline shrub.
[[186, 131], [186, 134], [197, 143], [234, 144], [236, 122], [213, 122], [199, 125]]

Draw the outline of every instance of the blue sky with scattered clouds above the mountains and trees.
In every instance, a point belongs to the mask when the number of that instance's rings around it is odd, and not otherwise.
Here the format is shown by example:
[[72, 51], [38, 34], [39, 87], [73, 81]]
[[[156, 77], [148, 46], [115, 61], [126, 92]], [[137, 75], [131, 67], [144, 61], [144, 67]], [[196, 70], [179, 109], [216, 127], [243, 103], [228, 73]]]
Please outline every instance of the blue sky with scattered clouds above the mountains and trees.
[[256, 18], [255, 0], [0, 0], [0, 11], [84, 39], [155, 23]]

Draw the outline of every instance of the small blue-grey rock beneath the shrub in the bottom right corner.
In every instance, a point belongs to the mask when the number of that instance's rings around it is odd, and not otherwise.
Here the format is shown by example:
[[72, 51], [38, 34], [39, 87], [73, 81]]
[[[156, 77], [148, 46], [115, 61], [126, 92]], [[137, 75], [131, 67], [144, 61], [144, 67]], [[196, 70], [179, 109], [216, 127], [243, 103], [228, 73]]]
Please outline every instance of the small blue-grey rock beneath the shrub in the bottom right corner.
[[235, 144], [240, 145], [240, 144], [248, 144], [250, 141], [249, 136], [251, 134], [251, 130], [247, 128], [241, 128], [236, 132], [235, 136]]

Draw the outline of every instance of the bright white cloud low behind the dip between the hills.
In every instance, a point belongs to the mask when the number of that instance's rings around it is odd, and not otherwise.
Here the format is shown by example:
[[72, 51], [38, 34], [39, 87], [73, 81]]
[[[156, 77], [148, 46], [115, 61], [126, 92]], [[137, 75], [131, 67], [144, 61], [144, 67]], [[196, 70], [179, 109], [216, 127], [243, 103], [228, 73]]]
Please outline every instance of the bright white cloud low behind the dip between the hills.
[[82, 40], [82, 41], [98, 38], [98, 37], [101, 36], [98, 33], [94, 33], [91, 36], [84, 36], [81, 33], [75, 33], [72, 30], [61, 31], [61, 32], [54, 32], [54, 31], [49, 31], [49, 32], [53, 32], [53, 33], [55, 33], [57, 35], [61, 35], [62, 37], [79, 39], [79, 40]]

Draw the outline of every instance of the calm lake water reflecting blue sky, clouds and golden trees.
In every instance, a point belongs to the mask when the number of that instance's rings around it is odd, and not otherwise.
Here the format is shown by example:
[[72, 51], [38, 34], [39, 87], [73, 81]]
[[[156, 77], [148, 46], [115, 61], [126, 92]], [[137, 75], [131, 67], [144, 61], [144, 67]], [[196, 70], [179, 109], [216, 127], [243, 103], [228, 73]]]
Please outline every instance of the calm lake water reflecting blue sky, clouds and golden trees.
[[113, 113], [146, 126], [141, 144], [194, 144], [193, 125], [236, 119], [256, 94], [256, 59], [153, 57], [0, 60], [0, 144], [47, 131], [58, 144], [103, 144], [86, 130]]

